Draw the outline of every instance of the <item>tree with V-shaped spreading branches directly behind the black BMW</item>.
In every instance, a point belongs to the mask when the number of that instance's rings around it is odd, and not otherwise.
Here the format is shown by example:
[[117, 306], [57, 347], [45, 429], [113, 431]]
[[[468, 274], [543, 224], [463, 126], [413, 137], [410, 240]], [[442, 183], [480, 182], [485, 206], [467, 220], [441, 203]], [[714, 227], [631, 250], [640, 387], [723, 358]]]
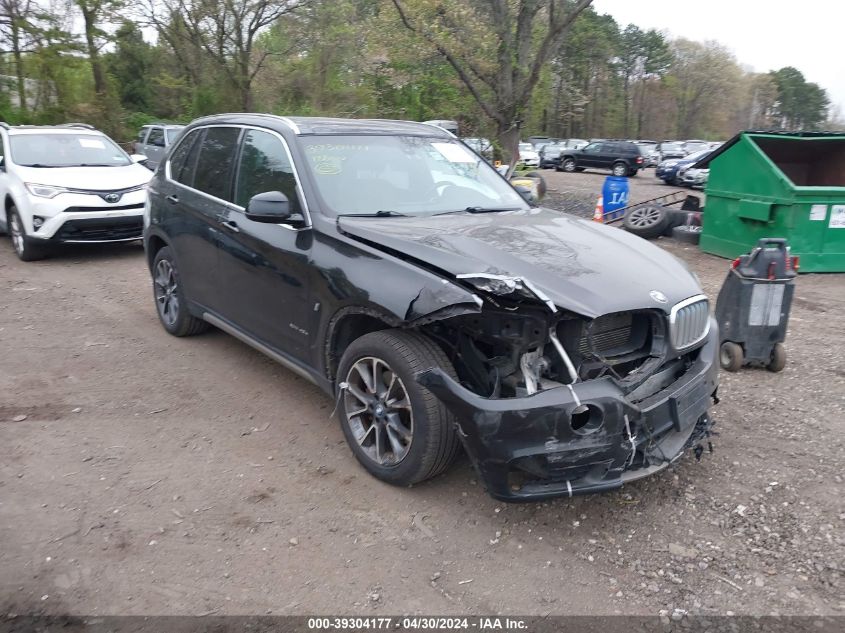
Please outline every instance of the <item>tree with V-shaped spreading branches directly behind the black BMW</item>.
[[402, 24], [452, 66], [493, 121], [511, 170], [545, 64], [592, 0], [393, 0]]

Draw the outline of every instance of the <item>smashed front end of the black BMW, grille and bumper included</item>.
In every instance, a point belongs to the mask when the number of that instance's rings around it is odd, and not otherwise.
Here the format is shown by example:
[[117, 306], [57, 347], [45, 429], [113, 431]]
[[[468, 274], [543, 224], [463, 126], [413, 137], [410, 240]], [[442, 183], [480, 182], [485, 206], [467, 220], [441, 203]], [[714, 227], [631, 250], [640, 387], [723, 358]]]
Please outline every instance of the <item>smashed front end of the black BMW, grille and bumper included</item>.
[[530, 281], [458, 275], [480, 309], [425, 324], [458, 380], [417, 380], [457, 417], [490, 494], [601, 492], [666, 468], [709, 435], [718, 333], [707, 299], [585, 317]]

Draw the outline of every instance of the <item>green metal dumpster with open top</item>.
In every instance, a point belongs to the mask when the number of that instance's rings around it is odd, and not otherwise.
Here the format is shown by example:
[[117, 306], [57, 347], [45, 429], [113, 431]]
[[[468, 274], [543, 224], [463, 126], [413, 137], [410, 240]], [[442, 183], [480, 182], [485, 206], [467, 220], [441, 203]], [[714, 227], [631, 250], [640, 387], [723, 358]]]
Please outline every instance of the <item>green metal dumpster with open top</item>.
[[845, 272], [845, 132], [741, 132], [694, 166], [710, 168], [701, 250], [783, 237], [801, 272]]

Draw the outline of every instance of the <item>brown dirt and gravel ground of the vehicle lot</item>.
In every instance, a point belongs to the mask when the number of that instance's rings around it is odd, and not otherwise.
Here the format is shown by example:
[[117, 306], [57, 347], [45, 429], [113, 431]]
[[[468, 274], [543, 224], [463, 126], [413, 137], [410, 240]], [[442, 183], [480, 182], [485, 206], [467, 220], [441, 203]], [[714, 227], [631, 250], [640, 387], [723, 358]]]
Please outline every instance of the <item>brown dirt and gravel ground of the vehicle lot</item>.
[[[558, 208], [604, 178], [546, 174]], [[726, 261], [660, 244], [715, 297]], [[169, 337], [149, 286], [136, 245], [23, 264], [0, 242], [2, 612], [845, 610], [841, 275], [800, 278], [783, 373], [722, 375], [714, 454], [518, 506], [464, 457], [370, 478], [316, 388], [222, 333]]]

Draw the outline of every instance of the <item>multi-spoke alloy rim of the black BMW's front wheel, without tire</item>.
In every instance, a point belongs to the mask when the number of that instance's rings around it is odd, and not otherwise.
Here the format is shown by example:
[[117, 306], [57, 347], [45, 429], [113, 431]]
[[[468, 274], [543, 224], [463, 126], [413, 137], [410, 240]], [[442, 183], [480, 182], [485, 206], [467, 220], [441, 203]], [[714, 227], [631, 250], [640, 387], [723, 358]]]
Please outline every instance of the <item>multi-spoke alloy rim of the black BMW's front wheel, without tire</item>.
[[349, 368], [343, 405], [349, 428], [369, 459], [395, 466], [407, 457], [414, 434], [411, 400], [385, 361], [367, 356]]

